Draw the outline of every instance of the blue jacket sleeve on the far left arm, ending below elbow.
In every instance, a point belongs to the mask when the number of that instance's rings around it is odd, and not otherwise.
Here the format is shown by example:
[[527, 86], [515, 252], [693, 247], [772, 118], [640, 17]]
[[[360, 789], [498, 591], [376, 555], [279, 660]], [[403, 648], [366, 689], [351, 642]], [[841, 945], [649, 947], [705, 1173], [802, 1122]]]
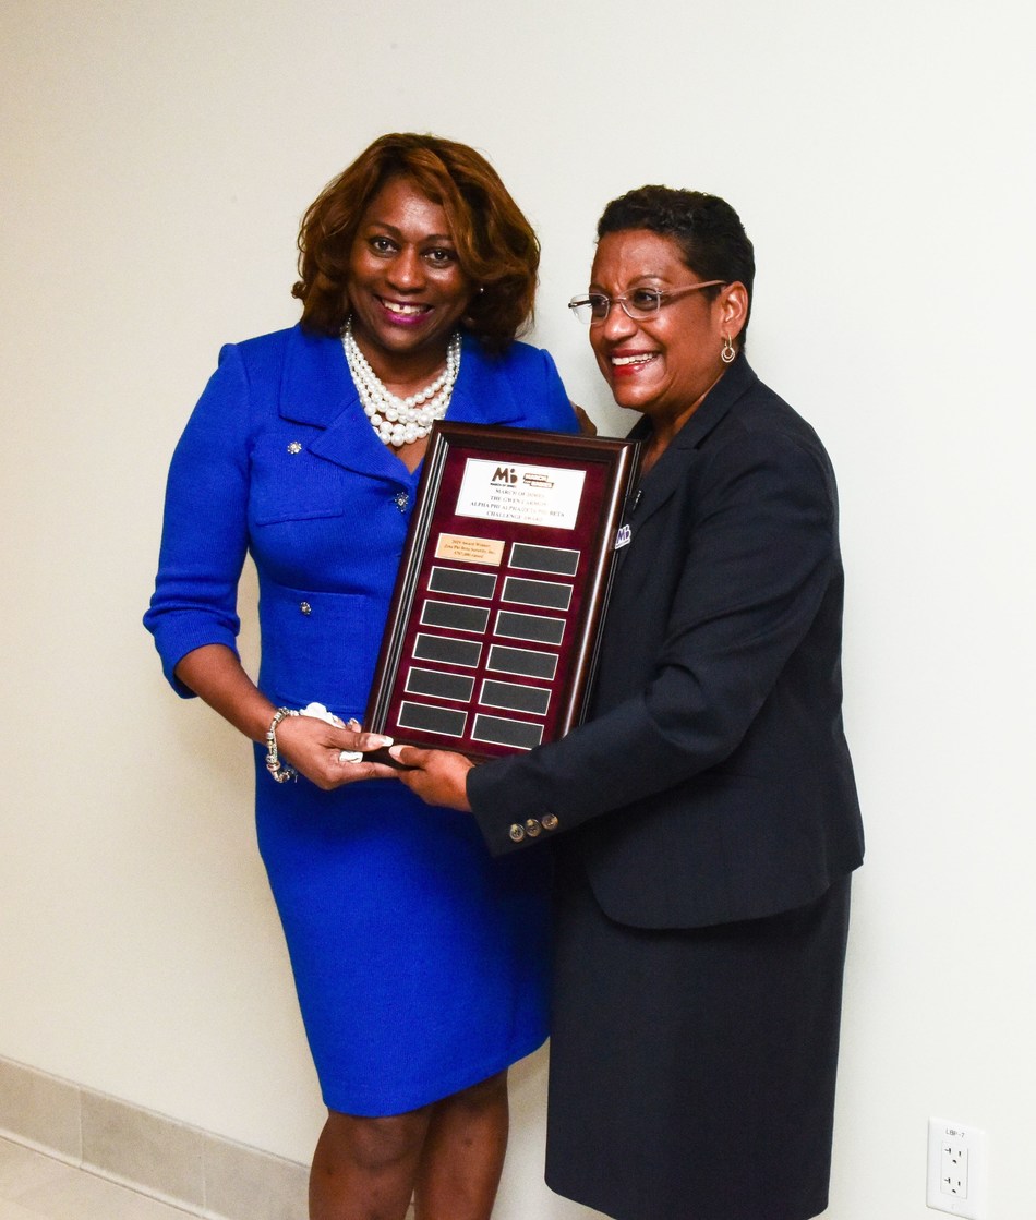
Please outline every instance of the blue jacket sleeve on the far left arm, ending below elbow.
[[159, 573], [144, 626], [177, 694], [173, 670], [204, 644], [237, 654], [237, 587], [248, 550], [249, 388], [237, 348], [220, 353], [173, 453]]

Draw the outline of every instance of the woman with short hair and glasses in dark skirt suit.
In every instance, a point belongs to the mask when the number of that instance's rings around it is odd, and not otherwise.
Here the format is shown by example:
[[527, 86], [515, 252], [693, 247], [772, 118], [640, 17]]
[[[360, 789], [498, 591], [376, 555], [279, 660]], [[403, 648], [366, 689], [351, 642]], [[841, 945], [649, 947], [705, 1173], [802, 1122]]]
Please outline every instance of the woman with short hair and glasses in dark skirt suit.
[[746, 361], [733, 209], [644, 187], [598, 238], [572, 307], [643, 465], [589, 720], [478, 767], [393, 753], [491, 852], [556, 847], [552, 1188], [619, 1220], [807, 1220], [863, 855], [835, 478]]

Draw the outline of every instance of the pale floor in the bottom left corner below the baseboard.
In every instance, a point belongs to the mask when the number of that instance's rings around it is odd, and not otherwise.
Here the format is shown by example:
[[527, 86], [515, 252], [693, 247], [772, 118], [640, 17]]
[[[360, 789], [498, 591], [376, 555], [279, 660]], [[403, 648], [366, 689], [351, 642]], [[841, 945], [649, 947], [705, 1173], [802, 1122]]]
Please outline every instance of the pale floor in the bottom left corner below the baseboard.
[[187, 1220], [188, 1213], [0, 1139], [0, 1220]]

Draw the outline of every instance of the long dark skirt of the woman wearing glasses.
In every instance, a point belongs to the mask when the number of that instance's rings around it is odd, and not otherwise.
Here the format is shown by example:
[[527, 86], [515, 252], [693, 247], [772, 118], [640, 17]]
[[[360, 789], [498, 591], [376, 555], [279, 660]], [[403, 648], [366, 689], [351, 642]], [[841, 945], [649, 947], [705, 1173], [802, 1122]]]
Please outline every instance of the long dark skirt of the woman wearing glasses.
[[654, 931], [609, 920], [561, 864], [553, 1191], [615, 1220], [826, 1208], [849, 883], [768, 919]]

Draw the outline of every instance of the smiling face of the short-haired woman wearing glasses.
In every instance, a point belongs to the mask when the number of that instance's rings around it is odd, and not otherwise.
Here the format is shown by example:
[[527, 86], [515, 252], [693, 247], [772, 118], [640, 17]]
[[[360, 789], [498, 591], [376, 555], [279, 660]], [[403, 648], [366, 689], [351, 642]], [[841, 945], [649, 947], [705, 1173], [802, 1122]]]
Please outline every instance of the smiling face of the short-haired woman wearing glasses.
[[[674, 292], [702, 279], [675, 240], [649, 229], [605, 234], [591, 274], [591, 292], [611, 298], [637, 288]], [[639, 321], [613, 305], [606, 318], [591, 323], [589, 342], [615, 401], [643, 411], [656, 433], [675, 434], [722, 376], [724, 339], [737, 338], [746, 306], [739, 283], [687, 293]]]

